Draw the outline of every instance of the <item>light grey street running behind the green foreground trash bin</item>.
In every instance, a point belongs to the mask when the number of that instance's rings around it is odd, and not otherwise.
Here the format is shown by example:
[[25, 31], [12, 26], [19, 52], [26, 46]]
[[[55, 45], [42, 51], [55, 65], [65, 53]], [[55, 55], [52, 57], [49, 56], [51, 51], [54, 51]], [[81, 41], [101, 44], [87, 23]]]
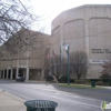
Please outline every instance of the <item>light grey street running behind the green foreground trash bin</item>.
[[24, 100], [50, 100], [58, 103], [56, 111], [101, 111], [103, 100], [58, 90], [52, 84], [1, 81], [0, 89]]

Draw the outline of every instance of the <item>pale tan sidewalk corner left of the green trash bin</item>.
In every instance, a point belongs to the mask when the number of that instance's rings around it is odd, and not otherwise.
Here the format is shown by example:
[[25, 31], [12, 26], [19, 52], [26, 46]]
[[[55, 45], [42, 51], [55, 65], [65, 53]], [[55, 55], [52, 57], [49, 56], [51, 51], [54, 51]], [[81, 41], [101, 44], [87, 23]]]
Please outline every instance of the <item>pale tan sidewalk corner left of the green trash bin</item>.
[[0, 111], [27, 111], [24, 101], [0, 89]]

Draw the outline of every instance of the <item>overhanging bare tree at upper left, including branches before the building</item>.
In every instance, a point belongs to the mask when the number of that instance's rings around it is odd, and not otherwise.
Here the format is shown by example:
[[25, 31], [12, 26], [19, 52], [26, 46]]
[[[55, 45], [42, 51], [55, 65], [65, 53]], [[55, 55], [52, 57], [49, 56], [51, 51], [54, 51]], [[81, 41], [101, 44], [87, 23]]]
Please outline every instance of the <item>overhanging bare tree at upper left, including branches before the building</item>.
[[[44, 48], [42, 42], [47, 41], [48, 38], [43, 40], [40, 32], [29, 30], [32, 21], [38, 20], [40, 17], [31, 14], [21, 0], [0, 1], [0, 43], [6, 46], [4, 48], [10, 56], [18, 52], [21, 56], [27, 49], [37, 52], [40, 51], [41, 47]], [[36, 49], [36, 43], [38, 49]]]

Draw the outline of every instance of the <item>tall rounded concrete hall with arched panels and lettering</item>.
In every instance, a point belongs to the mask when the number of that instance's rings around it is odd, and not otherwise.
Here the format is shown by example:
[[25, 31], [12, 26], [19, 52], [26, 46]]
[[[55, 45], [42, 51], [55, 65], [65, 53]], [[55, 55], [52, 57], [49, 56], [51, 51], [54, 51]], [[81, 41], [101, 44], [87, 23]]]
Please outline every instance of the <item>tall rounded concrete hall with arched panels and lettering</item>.
[[89, 59], [85, 78], [98, 79], [102, 63], [111, 54], [111, 6], [87, 4], [63, 11], [51, 27], [51, 50], [60, 54], [60, 48], [67, 42], [70, 52], [85, 51]]

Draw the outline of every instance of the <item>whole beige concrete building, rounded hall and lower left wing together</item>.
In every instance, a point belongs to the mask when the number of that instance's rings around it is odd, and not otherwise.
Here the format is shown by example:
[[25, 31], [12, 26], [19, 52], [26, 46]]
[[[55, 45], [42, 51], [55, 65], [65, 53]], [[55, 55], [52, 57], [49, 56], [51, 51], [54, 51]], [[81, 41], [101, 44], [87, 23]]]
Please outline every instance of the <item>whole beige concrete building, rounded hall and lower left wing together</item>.
[[[99, 79], [111, 56], [111, 4], [85, 4], [61, 12], [51, 23], [51, 39], [34, 31], [20, 30], [18, 34], [0, 47], [0, 78], [44, 80], [50, 70], [48, 56], [60, 56], [61, 49], [67, 58], [62, 46], [69, 43], [70, 52], [88, 54], [88, 73], [82, 78]], [[71, 73], [71, 78], [77, 77]]]

